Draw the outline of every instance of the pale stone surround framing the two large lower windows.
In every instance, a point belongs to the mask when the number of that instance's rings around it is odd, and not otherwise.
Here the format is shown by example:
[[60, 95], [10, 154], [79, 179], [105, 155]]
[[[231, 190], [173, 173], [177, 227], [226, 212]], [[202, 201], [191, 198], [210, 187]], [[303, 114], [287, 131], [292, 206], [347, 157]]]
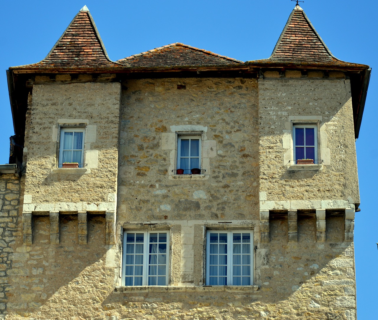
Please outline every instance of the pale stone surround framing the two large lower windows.
[[[177, 236], [177, 232], [180, 233], [180, 237], [182, 238], [184, 235], [181, 233], [183, 232], [180, 230], [180, 228], [177, 229], [177, 225], [180, 225], [180, 221], [166, 221], [164, 223], [161, 223], [160, 221], [150, 221], [148, 223], [140, 223], [140, 222], [125, 222], [121, 223], [119, 225], [120, 228], [117, 228], [119, 230], [118, 233], [118, 241], [119, 245], [114, 250], [120, 250], [119, 255], [122, 257], [122, 248], [123, 248], [123, 236], [124, 231], [164, 231], [169, 230], [169, 237], [170, 237], [170, 245], [169, 245], [169, 274], [168, 274], [168, 286], [122, 286], [121, 285], [121, 274], [122, 274], [122, 268], [123, 263], [121, 262], [121, 268], [118, 267], [119, 276], [116, 276], [115, 278], [115, 291], [116, 292], [128, 292], [128, 291], [143, 291], [143, 292], [159, 292], [160, 290], [166, 291], [166, 290], [178, 290], [178, 291], [233, 291], [233, 290], [243, 290], [243, 291], [257, 291], [260, 288], [261, 284], [261, 275], [260, 275], [260, 268], [266, 267], [267, 260], [266, 254], [267, 249], [260, 249], [260, 230], [259, 230], [259, 221], [251, 221], [250, 223], [246, 223], [245, 221], [228, 221], [228, 222], [219, 222], [219, 221], [209, 221], [209, 220], [195, 220], [195, 221], [186, 221], [187, 224], [195, 226], [195, 225], [201, 225], [202, 226], [202, 233], [203, 233], [203, 239], [201, 242], [201, 247], [203, 248], [203, 252], [200, 256], [203, 257], [203, 261], [201, 261], [201, 268], [202, 268], [202, 279], [203, 284], [199, 286], [188, 286], [186, 284], [183, 285], [172, 285], [172, 277], [174, 276], [173, 273], [180, 272], [180, 265], [173, 266], [172, 265], [172, 257], [175, 256], [175, 251], [178, 249], [182, 250], [182, 248], [178, 248], [178, 246], [182, 246], [183, 243], [175, 243], [174, 238]], [[253, 259], [253, 285], [251, 286], [208, 286], [205, 284], [205, 278], [206, 278], [206, 232], [207, 230], [210, 231], [245, 231], [245, 230], [251, 230], [253, 232], [253, 253], [252, 259]], [[177, 242], [177, 241], [176, 241]], [[109, 250], [109, 251], [114, 251]], [[193, 249], [194, 250], [194, 249]], [[109, 252], [109, 257], [114, 255], [114, 253]], [[177, 254], [177, 253], [176, 253]], [[108, 255], [108, 254], [107, 254]], [[181, 259], [183, 259], [181, 257]], [[108, 260], [108, 258], [107, 258]], [[181, 264], [183, 261], [181, 261]], [[178, 269], [178, 270], [175, 270]], [[118, 273], [116, 271], [116, 273]], [[177, 276], [178, 274], [176, 274]], [[119, 280], [118, 280], [119, 279]], [[160, 288], [160, 289], [159, 289]]]

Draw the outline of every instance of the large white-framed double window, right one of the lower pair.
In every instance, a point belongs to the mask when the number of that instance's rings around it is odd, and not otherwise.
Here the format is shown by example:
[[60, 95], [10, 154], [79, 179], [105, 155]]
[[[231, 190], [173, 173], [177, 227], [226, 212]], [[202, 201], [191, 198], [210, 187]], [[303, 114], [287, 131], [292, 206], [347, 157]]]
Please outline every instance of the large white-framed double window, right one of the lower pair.
[[253, 284], [253, 231], [207, 231], [206, 285]]

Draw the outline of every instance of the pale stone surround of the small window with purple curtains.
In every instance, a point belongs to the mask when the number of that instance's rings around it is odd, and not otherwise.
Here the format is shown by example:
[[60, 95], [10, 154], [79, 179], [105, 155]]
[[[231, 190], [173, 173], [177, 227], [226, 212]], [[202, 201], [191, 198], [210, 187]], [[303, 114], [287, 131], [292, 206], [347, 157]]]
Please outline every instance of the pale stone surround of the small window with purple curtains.
[[[322, 116], [289, 116], [285, 122], [285, 129], [282, 130], [282, 148], [287, 150], [283, 155], [283, 165], [288, 170], [322, 170], [324, 165], [331, 164], [330, 149], [327, 148], [327, 132]], [[317, 124], [318, 125], [318, 158], [321, 163], [297, 165], [293, 164], [293, 125], [295, 124]]]

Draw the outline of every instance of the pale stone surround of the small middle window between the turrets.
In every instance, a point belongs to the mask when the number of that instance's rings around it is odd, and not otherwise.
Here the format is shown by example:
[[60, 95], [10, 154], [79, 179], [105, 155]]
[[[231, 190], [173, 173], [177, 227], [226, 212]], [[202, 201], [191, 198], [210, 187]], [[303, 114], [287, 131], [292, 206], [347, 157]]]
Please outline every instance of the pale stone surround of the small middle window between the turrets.
[[[174, 125], [170, 126], [170, 133], [163, 133], [161, 137], [161, 148], [170, 151], [170, 165], [168, 168], [169, 180], [207, 180], [211, 174], [210, 158], [216, 156], [216, 141], [208, 140], [207, 126], [201, 125]], [[201, 169], [204, 169], [200, 175], [177, 175], [177, 138], [184, 135], [201, 136]], [[206, 171], [205, 171], [206, 170]]]

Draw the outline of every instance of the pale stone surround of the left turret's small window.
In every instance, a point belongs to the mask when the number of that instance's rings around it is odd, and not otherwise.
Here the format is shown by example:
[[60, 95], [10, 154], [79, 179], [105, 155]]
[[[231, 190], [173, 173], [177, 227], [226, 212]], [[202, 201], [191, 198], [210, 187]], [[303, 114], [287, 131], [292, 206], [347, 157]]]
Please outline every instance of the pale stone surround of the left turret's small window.
[[[57, 145], [56, 166], [52, 173], [90, 173], [90, 169], [98, 167], [98, 150], [91, 149], [91, 143], [96, 142], [97, 125], [90, 125], [87, 119], [58, 119], [52, 128], [52, 140]], [[83, 168], [58, 168], [60, 149], [60, 130], [62, 128], [84, 128], [84, 167]]]

